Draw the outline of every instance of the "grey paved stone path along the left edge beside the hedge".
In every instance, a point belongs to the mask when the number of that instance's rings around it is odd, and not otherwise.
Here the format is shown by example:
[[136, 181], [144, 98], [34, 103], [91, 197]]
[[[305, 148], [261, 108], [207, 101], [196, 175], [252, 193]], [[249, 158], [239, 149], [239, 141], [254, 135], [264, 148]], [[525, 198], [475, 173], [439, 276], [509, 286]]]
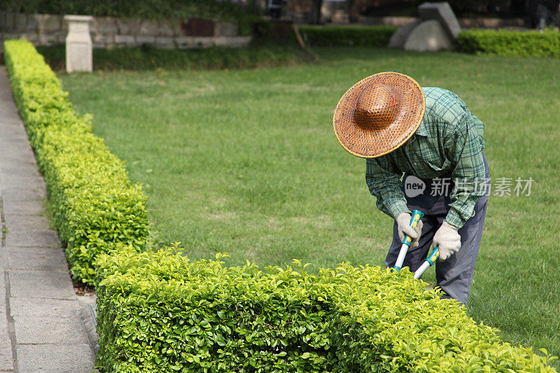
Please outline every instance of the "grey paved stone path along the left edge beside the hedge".
[[0, 372], [92, 372], [95, 341], [45, 195], [0, 66]]

